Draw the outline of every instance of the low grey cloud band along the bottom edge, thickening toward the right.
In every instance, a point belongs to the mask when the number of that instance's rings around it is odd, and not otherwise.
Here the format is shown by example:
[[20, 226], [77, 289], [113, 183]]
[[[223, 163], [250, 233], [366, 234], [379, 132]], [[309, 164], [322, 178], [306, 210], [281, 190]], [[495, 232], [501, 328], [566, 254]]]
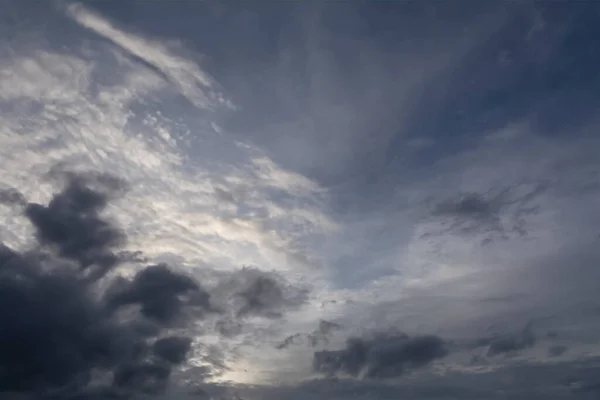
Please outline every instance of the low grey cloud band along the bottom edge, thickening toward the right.
[[[289, 400], [593, 400], [598, 395], [598, 358], [490, 368], [477, 374], [446, 371], [399, 381], [315, 379], [297, 385], [240, 390], [241, 398]], [[212, 389], [212, 388], [210, 388]], [[216, 391], [215, 391], [216, 392]]]

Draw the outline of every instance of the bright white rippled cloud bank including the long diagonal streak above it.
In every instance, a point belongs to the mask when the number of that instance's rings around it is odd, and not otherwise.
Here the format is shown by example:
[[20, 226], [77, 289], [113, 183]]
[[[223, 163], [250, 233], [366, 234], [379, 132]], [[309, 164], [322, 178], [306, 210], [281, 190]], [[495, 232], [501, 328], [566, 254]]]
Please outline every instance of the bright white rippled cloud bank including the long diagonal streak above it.
[[[76, 52], [50, 52], [42, 44], [32, 54], [4, 60], [3, 100], [21, 102], [24, 108], [4, 115], [2, 169], [15, 172], [3, 183], [41, 200], [33, 176], [41, 176], [52, 163], [109, 170], [132, 183], [119, 215], [132, 242], [151, 256], [171, 252], [189, 263], [202, 260], [218, 266], [226, 261], [228, 267], [256, 264], [276, 269], [307, 262], [294, 242], [335, 224], [320, 215], [318, 201], [308, 207], [298, 200], [278, 204], [268, 190], [292, 198], [302, 195], [308, 201], [320, 192], [317, 185], [282, 170], [256, 149], [240, 167], [184, 171], [184, 157], [202, 154], [183, 155], [189, 149], [180, 148], [177, 135], [170, 132], [175, 128], [172, 120], [152, 111], [133, 111], [134, 106], [146, 97], [160, 101], [171, 85], [183, 90], [194, 81], [213, 90], [212, 81], [194, 62], [169, 53], [159, 42], [125, 34], [81, 6], [69, 12], [82, 25], [154, 64], [170, 76], [169, 82], [127, 58], [127, 53], [117, 49], [107, 54], [100, 45], [90, 45], [92, 57], [86, 58]], [[93, 61], [87, 61], [90, 58]], [[99, 73], [122, 79], [119, 85], [100, 86], [95, 80]], [[200, 96], [199, 91], [185, 90], [186, 96]], [[235, 142], [230, 146], [238, 147]], [[23, 168], [25, 162], [28, 168]], [[30, 187], [23, 188], [22, 182]], [[224, 202], [217, 189], [238, 198]], [[49, 195], [47, 189], [44, 197]], [[242, 250], [235, 250], [238, 247]]]

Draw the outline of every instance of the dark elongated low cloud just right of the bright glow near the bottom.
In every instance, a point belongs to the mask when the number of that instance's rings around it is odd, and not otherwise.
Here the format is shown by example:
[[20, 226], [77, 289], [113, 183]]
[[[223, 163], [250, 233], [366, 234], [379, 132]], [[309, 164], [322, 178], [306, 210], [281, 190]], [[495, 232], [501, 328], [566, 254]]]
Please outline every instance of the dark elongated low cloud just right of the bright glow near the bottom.
[[448, 354], [444, 341], [433, 335], [377, 335], [351, 338], [342, 350], [314, 354], [313, 366], [328, 376], [349, 375], [371, 379], [401, 376]]

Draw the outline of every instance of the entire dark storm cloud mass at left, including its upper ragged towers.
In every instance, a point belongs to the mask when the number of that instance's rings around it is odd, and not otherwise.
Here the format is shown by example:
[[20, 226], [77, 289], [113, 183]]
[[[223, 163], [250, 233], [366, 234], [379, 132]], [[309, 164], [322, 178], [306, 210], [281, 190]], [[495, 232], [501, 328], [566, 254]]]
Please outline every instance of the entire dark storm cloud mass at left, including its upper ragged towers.
[[[48, 205], [25, 206], [42, 251], [50, 248], [58, 257], [0, 246], [0, 393], [89, 399], [155, 392], [166, 387], [171, 365], [184, 361], [190, 339], [151, 343], [181, 311], [180, 296], [196, 293], [189, 307], [208, 304], [191, 278], [151, 266], [119, 281], [118, 296], [98, 294], [96, 280], [116, 266], [113, 250], [125, 239], [100, 216], [110, 198], [103, 192], [107, 181], [116, 182], [71, 176]], [[95, 280], [86, 279], [86, 269], [97, 265]], [[117, 318], [130, 304], [141, 312]], [[153, 329], [140, 329], [147, 319]], [[108, 383], [93, 389], [96, 376]]]

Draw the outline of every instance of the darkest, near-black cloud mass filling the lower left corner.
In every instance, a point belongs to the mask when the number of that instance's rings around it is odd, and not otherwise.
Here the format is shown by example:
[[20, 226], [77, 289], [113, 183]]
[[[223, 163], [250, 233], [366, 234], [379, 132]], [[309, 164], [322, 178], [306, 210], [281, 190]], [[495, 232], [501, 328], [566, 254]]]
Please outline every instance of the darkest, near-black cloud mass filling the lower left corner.
[[107, 375], [112, 389], [129, 390], [124, 371], [137, 367], [136, 382], [156, 380], [152, 362], [144, 361], [146, 340], [133, 324], [107, 313], [72, 269], [45, 267], [19, 255], [1, 266], [0, 392], [79, 391], [94, 373]]

